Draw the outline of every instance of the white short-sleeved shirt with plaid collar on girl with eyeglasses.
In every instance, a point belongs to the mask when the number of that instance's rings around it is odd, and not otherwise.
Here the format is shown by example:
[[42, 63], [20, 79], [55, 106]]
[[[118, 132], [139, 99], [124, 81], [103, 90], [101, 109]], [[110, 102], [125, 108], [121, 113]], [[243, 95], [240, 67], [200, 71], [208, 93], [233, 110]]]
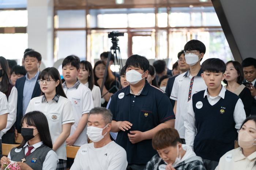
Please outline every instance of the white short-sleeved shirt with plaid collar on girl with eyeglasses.
[[[31, 99], [26, 113], [41, 111], [45, 114], [49, 124], [52, 143], [54, 144], [62, 133], [62, 125], [66, 123], [74, 124], [73, 109], [71, 102], [58, 94], [49, 102], [43, 99], [45, 99], [44, 95]], [[59, 159], [67, 160], [66, 141], [56, 150], [56, 154]]]

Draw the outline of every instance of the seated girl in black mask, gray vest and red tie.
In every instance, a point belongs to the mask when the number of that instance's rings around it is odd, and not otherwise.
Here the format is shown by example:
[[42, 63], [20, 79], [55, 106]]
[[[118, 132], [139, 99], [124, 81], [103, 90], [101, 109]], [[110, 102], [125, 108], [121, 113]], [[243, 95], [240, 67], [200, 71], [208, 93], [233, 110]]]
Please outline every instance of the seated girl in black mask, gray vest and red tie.
[[23, 116], [20, 126], [23, 141], [20, 146], [12, 148], [8, 157], [1, 158], [1, 165], [10, 164], [12, 160], [21, 170], [56, 169], [59, 159], [52, 150], [46, 116], [39, 111], [29, 112]]

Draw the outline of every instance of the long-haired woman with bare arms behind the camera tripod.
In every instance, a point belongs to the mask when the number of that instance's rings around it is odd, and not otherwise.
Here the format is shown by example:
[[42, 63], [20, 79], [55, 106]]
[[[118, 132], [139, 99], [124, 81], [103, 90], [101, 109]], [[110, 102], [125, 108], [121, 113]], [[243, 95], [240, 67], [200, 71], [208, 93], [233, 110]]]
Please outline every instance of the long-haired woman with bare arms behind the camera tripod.
[[[99, 86], [99, 88], [101, 88], [102, 86], [105, 69], [106, 69], [106, 64], [102, 60], [99, 60], [98, 62], [96, 62], [93, 68], [94, 84], [96, 86]], [[116, 85], [115, 76], [112, 74], [109, 67], [107, 69], [108, 69], [108, 72], [106, 75], [106, 82], [103, 86], [103, 91], [102, 91], [102, 95], [104, 96], [103, 98], [101, 98], [101, 107], [106, 107], [108, 105], [110, 97], [115, 92], [117, 92], [116, 88], [112, 88], [113, 86]], [[117, 88], [120, 89], [120, 82], [118, 80], [116, 81], [117, 81]], [[110, 91], [108, 92], [108, 90]]]

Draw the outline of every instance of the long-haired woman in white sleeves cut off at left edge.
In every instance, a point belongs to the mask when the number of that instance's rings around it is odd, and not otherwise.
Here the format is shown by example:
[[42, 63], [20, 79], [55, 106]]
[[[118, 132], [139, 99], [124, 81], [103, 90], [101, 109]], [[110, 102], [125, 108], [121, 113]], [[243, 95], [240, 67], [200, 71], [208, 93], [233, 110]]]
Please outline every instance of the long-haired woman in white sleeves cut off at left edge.
[[8, 100], [9, 112], [7, 125], [5, 129], [1, 131], [2, 133], [2, 143], [15, 144], [15, 128], [14, 123], [16, 121], [17, 112], [17, 100], [18, 91], [16, 87], [10, 83], [8, 78], [8, 62], [4, 57], [0, 57], [0, 91], [3, 92]]

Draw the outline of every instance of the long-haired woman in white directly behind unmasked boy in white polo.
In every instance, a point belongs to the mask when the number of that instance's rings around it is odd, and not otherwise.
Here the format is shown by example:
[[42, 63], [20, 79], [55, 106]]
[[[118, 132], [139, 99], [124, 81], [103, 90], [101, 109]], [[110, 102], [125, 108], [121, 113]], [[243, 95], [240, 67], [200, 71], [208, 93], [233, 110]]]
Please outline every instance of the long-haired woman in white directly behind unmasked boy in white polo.
[[101, 90], [94, 85], [93, 67], [90, 62], [80, 62], [80, 72], [77, 78], [80, 83], [90, 88], [94, 107], [101, 107]]

